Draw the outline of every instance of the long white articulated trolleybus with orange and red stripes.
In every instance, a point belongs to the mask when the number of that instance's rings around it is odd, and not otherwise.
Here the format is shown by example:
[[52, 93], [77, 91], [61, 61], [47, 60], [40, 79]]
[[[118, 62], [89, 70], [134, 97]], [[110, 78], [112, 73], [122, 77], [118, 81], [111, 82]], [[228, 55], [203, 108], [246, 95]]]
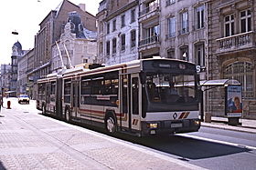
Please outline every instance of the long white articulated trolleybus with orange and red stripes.
[[176, 59], [80, 66], [38, 80], [37, 109], [67, 122], [100, 125], [111, 134], [195, 132], [197, 77], [196, 65]]

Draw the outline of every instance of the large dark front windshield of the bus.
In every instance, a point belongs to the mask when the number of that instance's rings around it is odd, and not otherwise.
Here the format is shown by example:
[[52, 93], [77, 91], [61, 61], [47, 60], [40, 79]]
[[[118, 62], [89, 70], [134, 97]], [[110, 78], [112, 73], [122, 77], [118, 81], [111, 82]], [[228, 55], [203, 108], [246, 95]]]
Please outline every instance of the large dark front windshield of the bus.
[[197, 103], [195, 75], [146, 74], [145, 86], [147, 98], [151, 104]]

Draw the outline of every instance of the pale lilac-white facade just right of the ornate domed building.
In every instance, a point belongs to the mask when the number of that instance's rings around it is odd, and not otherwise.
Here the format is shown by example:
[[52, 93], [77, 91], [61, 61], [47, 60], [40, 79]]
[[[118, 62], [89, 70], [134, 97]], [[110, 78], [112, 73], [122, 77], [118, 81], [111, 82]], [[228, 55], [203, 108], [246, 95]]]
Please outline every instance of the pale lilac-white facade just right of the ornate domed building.
[[138, 59], [138, 1], [101, 1], [97, 14], [99, 61], [105, 65]]

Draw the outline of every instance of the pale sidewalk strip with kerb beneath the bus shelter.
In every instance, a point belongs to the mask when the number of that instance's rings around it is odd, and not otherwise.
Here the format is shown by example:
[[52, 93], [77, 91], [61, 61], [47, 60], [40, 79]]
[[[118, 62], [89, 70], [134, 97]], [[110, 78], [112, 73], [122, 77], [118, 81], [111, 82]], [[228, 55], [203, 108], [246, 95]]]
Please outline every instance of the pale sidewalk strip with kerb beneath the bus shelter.
[[211, 123], [202, 122], [201, 125], [256, 134], [256, 120], [250, 120], [250, 119], [240, 119], [240, 125], [235, 126], [235, 125], [228, 125], [227, 117], [212, 116]]

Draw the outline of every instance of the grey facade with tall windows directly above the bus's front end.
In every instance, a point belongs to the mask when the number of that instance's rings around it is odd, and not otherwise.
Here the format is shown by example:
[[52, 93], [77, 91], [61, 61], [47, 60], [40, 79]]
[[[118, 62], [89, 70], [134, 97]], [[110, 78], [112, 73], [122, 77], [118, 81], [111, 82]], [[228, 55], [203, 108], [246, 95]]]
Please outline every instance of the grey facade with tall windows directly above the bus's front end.
[[205, 0], [167, 0], [160, 5], [160, 56], [196, 63], [207, 79], [208, 4]]

